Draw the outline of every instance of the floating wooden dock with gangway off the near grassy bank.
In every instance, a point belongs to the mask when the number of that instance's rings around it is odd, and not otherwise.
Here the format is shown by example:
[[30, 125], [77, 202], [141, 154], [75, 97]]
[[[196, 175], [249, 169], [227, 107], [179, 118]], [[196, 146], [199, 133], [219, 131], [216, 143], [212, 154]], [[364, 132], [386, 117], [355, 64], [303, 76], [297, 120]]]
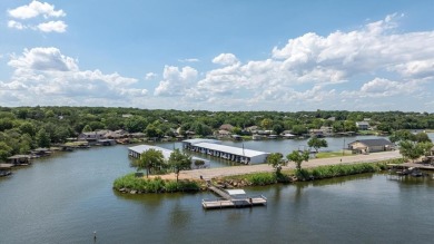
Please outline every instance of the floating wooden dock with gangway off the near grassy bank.
[[207, 180], [208, 189], [220, 196], [217, 199], [203, 199], [205, 209], [228, 208], [228, 207], [253, 207], [266, 206], [267, 198], [263, 195], [247, 196], [244, 189], [221, 189]]

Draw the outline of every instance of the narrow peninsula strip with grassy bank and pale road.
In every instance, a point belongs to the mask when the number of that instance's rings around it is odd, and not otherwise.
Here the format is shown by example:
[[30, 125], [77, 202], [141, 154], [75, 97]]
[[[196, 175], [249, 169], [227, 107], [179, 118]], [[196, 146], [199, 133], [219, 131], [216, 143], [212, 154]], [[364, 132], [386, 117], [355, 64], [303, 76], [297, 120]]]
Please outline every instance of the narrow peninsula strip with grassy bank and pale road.
[[[149, 178], [135, 177], [128, 174], [117, 178], [114, 189], [125, 194], [147, 194], [147, 193], [170, 193], [170, 192], [200, 192], [206, 189], [205, 180], [214, 180], [219, 185], [228, 187], [244, 187], [257, 185], [247, 179], [253, 176], [260, 178], [259, 185], [272, 185], [287, 182], [316, 180], [329, 177], [339, 177], [385, 169], [385, 162], [402, 158], [397, 152], [375, 153], [373, 155], [355, 155], [334, 158], [318, 158], [307, 162], [303, 166], [304, 172], [310, 172], [314, 176], [297, 178], [294, 175], [295, 164], [289, 163], [282, 168], [282, 175], [275, 174], [275, 168], [268, 164], [231, 166], [224, 168], [193, 169], [179, 174], [179, 182], [176, 182], [174, 173], [166, 175], [152, 175]], [[382, 164], [383, 163], [383, 164]], [[326, 172], [324, 172], [326, 168]], [[331, 170], [333, 173], [331, 173]], [[289, 173], [289, 174], [288, 174]], [[236, 177], [239, 176], [238, 179]], [[247, 179], [247, 180], [245, 180]], [[255, 179], [254, 179], [255, 180]]]

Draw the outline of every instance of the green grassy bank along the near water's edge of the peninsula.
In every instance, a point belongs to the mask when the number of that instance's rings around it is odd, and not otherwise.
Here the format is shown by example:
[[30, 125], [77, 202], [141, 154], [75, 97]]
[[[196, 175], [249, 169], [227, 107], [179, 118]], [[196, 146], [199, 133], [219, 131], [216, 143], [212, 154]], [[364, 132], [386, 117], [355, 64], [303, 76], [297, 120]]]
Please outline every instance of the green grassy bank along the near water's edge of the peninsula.
[[[339, 164], [318, 166], [297, 170], [264, 172], [237, 176], [213, 178], [215, 184], [226, 187], [264, 186], [279, 183], [294, 183], [303, 180], [319, 180], [324, 178], [342, 177], [348, 175], [376, 173], [387, 169], [387, 164], [401, 164], [402, 158], [379, 160], [376, 163]], [[161, 179], [160, 177], [136, 177], [135, 173], [121, 176], [114, 182], [114, 189], [129, 194], [146, 193], [176, 193], [206, 191], [203, 180], [197, 179]]]

